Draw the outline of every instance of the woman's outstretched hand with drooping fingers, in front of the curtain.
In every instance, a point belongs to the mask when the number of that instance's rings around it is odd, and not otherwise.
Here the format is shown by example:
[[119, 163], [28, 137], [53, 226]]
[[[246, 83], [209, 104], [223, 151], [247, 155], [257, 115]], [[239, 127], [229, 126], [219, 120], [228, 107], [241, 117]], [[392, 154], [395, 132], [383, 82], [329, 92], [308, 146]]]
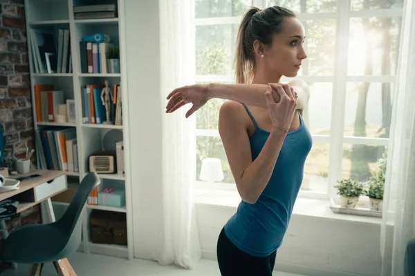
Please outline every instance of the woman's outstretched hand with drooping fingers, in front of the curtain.
[[186, 113], [186, 118], [190, 117], [196, 110], [208, 102], [208, 85], [194, 84], [192, 86], [183, 86], [176, 88], [167, 96], [169, 102], [166, 106], [166, 113], [172, 113], [181, 108], [186, 103], [192, 103], [193, 106]]

